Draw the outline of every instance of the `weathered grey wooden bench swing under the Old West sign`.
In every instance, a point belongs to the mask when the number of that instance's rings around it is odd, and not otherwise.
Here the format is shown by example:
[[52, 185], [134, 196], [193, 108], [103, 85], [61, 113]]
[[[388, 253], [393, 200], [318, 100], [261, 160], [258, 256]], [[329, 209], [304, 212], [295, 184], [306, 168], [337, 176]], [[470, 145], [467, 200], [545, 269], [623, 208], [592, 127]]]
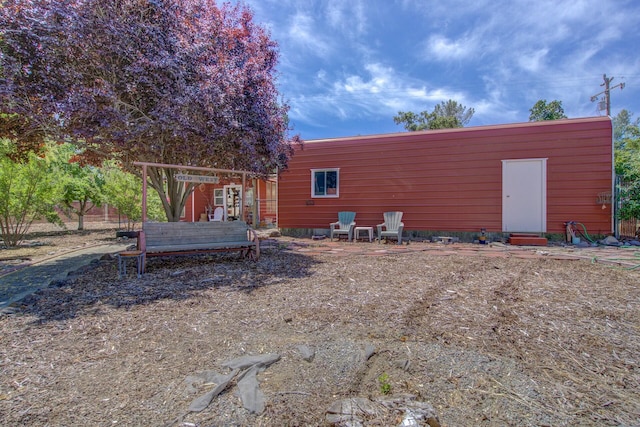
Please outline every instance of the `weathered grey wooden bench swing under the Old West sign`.
[[138, 248], [146, 256], [240, 251], [253, 260], [260, 257], [258, 234], [244, 221], [146, 222]]

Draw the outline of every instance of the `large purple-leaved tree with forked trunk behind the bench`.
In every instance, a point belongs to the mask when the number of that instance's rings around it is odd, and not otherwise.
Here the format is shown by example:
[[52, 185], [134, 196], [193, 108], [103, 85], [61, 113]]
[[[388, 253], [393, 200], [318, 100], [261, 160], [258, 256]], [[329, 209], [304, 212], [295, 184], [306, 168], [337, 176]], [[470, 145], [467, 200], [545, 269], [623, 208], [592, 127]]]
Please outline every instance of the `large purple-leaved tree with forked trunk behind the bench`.
[[[116, 159], [283, 169], [288, 106], [276, 89], [277, 44], [250, 9], [214, 0], [5, 0], [0, 12], [3, 113]], [[25, 101], [26, 100], [26, 101]], [[192, 190], [178, 170], [149, 168], [178, 221]]]

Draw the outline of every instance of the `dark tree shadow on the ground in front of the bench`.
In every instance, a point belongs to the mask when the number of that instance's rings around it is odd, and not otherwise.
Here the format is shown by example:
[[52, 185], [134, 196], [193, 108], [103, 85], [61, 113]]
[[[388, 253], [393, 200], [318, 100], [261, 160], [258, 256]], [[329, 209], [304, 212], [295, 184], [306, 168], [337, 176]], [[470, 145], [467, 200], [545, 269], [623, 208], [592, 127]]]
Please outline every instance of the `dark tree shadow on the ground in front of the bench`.
[[237, 253], [155, 257], [147, 259], [142, 278], [129, 268], [127, 277], [119, 279], [116, 260], [101, 260], [25, 297], [17, 309], [44, 323], [95, 314], [104, 306], [127, 309], [158, 300], [197, 298], [214, 288], [252, 292], [308, 277], [318, 262], [281, 248], [264, 250], [257, 262]]

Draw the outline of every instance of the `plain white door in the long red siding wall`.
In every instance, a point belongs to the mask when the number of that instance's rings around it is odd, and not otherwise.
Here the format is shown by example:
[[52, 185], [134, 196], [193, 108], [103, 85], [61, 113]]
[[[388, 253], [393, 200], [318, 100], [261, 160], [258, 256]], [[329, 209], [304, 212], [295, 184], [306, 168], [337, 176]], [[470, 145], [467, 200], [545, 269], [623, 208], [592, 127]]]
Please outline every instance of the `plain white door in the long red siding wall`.
[[547, 159], [502, 161], [502, 231], [547, 231]]

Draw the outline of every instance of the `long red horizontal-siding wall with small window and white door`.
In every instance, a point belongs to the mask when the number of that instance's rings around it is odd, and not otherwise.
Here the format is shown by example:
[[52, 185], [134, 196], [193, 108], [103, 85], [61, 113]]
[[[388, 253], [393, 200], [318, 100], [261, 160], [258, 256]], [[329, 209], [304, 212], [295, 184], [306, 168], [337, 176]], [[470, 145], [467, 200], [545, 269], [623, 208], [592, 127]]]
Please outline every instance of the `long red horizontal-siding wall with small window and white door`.
[[[612, 231], [608, 117], [307, 141], [279, 182], [279, 226], [329, 228], [337, 212], [359, 225], [404, 212], [406, 230], [502, 231], [502, 160], [548, 158], [547, 232], [578, 221]], [[339, 198], [311, 197], [311, 169], [340, 168]], [[312, 202], [311, 202], [312, 201]], [[313, 203], [313, 204], [311, 204]]]

